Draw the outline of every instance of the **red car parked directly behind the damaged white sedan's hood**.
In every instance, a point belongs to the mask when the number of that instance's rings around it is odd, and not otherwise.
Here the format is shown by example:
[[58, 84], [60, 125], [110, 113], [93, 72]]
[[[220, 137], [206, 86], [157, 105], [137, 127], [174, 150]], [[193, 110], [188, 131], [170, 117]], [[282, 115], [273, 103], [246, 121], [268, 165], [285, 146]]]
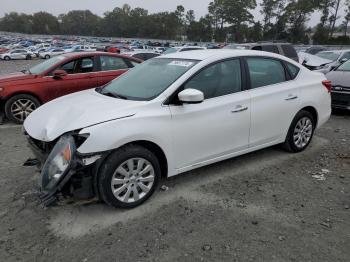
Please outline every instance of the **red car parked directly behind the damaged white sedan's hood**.
[[29, 70], [0, 76], [0, 107], [9, 120], [23, 123], [40, 105], [73, 92], [105, 85], [141, 62], [105, 52], [56, 56]]

